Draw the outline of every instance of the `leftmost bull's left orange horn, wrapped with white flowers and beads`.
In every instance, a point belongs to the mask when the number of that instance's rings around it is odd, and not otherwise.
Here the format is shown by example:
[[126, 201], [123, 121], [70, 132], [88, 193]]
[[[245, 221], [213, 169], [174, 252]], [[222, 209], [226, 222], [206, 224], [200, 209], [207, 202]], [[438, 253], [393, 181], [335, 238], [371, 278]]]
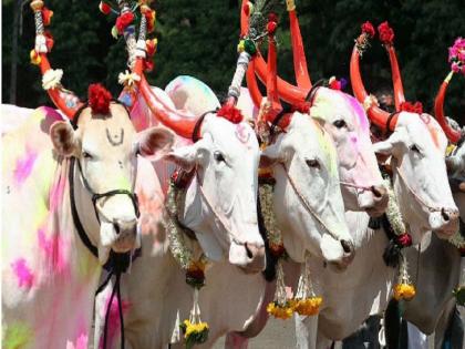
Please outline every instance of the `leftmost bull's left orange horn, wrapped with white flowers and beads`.
[[73, 92], [64, 89], [61, 84], [63, 71], [60, 69], [53, 70], [50, 66], [46, 54], [51, 51], [51, 47], [46, 44], [48, 38], [45, 37], [44, 25], [48, 23], [44, 23], [43, 18], [43, 14], [46, 13], [48, 10], [43, 7], [43, 1], [31, 1], [31, 8], [34, 11], [35, 22], [35, 47], [34, 50], [31, 51], [31, 60], [34, 64], [40, 66], [42, 88], [46, 90], [53, 104], [72, 120], [83, 103]]

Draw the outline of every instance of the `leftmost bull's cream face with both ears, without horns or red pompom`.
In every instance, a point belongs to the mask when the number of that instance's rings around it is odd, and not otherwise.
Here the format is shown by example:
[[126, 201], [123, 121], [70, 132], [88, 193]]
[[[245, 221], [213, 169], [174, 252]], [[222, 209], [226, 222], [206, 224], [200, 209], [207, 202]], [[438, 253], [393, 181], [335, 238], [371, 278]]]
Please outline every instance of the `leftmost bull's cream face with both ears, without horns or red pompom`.
[[58, 154], [75, 158], [76, 184], [70, 189], [75, 192], [84, 226], [92, 227], [90, 222], [95, 218], [100, 223], [100, 229], [85, 229], [99, 248], [99, 258], [105, 261], [111, 249], [125, 253], [135, 248], [137, 155], [170, 146], [172, 132], [152, 127], [138, 135], [125, 106], [112, 102], [107, 112], [84, 106], [73, 124], [55, 122], [50, 135]]

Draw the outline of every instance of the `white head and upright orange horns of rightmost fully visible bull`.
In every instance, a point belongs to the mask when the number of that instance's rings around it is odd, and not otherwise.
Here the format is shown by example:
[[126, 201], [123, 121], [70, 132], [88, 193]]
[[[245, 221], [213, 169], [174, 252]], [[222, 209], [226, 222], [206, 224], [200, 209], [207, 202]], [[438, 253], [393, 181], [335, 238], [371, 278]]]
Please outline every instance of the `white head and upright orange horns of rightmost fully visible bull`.
[[394, 192], [414, 242], [420, 242], [428, 230], [436, 232], [440, 237], [450, 237], [457, 230], [458, 212], [444, 164], [447, 140], [438, 123], [428, 114], [405, 111], [403, 105], [407, 104], [395, 51], [392, 42], [384, 42], [384, 47], [390, 55], [397, 112], [390, 114], [381, 110], [366, 93], [360, 75], [356, 44], [350, 69], [353, 92], [364, 103], [371, 121], [384, 132], [392, 132], [374, 148], [378, 153], [392, 156]]

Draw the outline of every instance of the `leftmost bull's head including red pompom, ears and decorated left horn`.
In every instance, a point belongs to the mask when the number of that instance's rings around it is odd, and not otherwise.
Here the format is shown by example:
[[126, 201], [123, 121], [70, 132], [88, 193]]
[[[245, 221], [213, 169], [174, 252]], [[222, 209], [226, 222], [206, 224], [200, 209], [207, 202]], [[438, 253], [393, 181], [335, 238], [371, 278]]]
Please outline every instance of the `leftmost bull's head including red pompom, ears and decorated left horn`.
[[[137, 135], [130, 114], [101, 85], [91, 85], [89, 102], [81, 102], [61, 84], [63, 71], [48, 60], [51, 47], [44, 34], [43, 1], [31, 2], [35, 19], [35, 48], [42, 85], [69, 121], [55, 122], [50, 136], [56, 153], [70, 161], [72, 203], [87, 234], [92, 253], [105, 263], [110, 250], [126, 253], [136, 247], [137, 197], [134, 194], [137, 155], [153, 155], [169, 147], [173, 133], [154, 127]], [[75, 164], [75, 165], [73, 165]], [[73, 203], [74, 202], [74, 203]], [[79, 224], [78, 224], [79, 225]], [[80, 227], [76, 226], [78, 229]]]

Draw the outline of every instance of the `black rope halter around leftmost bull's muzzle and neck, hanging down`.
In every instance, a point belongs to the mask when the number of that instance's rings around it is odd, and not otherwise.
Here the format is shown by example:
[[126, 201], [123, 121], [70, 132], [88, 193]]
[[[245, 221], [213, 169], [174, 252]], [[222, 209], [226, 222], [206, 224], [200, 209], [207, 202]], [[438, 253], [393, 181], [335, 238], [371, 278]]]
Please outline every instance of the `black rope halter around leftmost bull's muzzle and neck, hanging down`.
[[[136, 213], [137, 218], [140, 217], [140, 209], [138, 209], [138, 199], [137, 195], [133, 192], [126, 191], [126, 189], [114, 189], [106, 193], [97, 194], [92, 191], [91, 186], [89, 185], [89, 182], [84, 177], [82, 173], [81, 163], [75, 157], [71, 157], [70, 160], [70, 168], [69, 168], [69, 183], [70, 183], [70, 203], [71, 203], [71, 214], [73, 217], [74, 227], [78, 230], [78, 235], [81, 238], [81, 242], [84, 244], [84, 246], [90, 250], [90, 253], [95, 257], [99, 258], [99, 249], [95, 247], [95, 245], [92, 244], [91, 239], [89, 238], [89, 234], [85, 233], [85, 229], [81, 223], [81, 219], [79, 217], [78, 207], [75, 203], [75, 196], [74, 196], [74, 164], [78, 162], [78, 168], [80, 173], [80, 177], [82, 178], [82, 182], [84, 184], [84, 187], [87, 189], [87, 192], [92, 195], [92, 204], [94, 206], [94, 212], [96, 219], [99, 224], [100, 217], [99, 217], [99, 208], [97, 208], [97, 201], [103, 197], [111, 197], [114, 195], [128, 195], [131, 197], [131, 201], [134, 205], [134, 211]], [[136, 167], [137, 168], [137, 167]], [[135, 175], [134, 175], [134, 183], [135, 183]], [[106, 219], [106, 217], [105, 217]], [[103, 335], [103, 349], [106, 349], [106, 342], [107, 342], [107, 326], [108, 326], [108, 318], [110, 318], [110, 309], [113, 302], [113, 298], [116, 295], [117, 299], [117, 306], [118, 306], [118, 312], [120, 312], [120, 330], [121, 330], [121, 348], [124, 349], [124, 321], [123, 321], [123, 308], [121, 302], [121, 290], [120, 290], [120, 280], [121, 275], [127, 270], [127, 267], [130, 264], [135, 260], [138, 256], [141, 256], [141, 248], [135, 250], [134, 253], [124, 253], [124, 254], [117, 254], [113, 250], [110, 252], [108, 260], [105, 263], [103, 268], [108, 273], [105, 281], [97, 288], [95, 291], [95, 296], [97, 296], [110, 283], [112, 276], [115, 276], [115, 284], [113, 286], [113, 290], [110, 297], [110, 301], [105, 311], [105, 325], [104, 325], [104, 335]]]

